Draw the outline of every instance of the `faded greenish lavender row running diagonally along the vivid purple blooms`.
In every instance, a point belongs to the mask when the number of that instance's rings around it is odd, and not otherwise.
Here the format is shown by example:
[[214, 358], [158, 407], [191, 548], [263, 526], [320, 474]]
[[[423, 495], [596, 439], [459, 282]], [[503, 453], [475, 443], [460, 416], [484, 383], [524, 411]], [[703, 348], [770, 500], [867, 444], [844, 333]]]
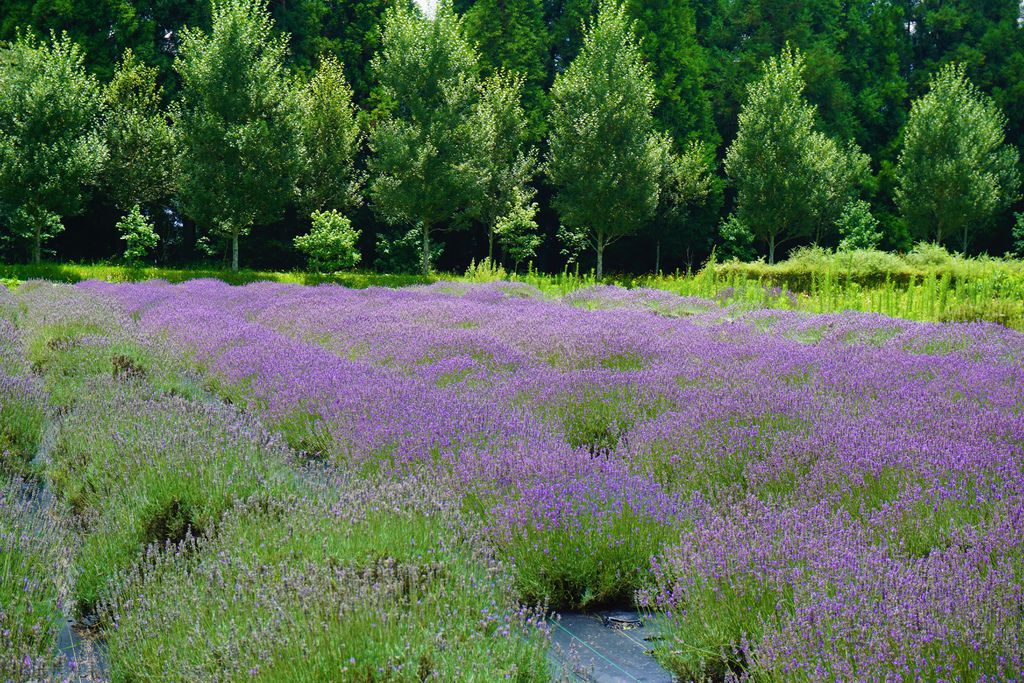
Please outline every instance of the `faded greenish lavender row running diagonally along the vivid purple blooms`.
[[325, 483], [125, 312], [68, 287], [18, 298], [61, 396], [45, 475], [82, 529], [74, 597], [114, 680], [547, 678], [537, 612], [431, 487]]

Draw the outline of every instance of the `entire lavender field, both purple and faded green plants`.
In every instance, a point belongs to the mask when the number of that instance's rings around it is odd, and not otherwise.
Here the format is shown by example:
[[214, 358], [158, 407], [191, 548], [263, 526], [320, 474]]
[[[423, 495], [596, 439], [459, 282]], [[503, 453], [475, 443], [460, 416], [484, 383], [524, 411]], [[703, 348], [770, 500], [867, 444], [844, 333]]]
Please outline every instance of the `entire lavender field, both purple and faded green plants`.
[[680, 680], [1024, 671], [1019, 332], [215, 281], [0, 331], [0, 679], [68, 613], [117, 681], [542, 681], [549, 615], [634, 604]]

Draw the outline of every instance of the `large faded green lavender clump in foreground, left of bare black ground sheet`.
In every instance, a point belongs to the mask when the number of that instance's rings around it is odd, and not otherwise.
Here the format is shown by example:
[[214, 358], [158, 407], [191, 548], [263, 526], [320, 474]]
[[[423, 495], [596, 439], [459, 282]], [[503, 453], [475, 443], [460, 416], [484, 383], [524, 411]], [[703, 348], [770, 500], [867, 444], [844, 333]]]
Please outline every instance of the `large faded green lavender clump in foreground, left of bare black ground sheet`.
[[500, 566], [469, 559], [458, 520], [410, 505], [417, 494], [367, 482], [255, 500], [195, 552], [146, 558], [104, 608], [114, 678], [549, 680], [535, 613]]

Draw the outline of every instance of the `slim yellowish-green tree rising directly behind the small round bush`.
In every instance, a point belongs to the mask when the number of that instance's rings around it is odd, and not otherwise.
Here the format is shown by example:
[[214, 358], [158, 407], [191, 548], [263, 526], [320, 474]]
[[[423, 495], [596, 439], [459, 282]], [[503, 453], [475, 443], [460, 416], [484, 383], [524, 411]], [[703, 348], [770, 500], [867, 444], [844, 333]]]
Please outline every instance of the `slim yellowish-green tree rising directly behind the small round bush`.
[[299, 198], [307, 212], [359, 203], [355, 155], [361, 134], [344, 70], [327, 55], [300, 97], [302, 171]]

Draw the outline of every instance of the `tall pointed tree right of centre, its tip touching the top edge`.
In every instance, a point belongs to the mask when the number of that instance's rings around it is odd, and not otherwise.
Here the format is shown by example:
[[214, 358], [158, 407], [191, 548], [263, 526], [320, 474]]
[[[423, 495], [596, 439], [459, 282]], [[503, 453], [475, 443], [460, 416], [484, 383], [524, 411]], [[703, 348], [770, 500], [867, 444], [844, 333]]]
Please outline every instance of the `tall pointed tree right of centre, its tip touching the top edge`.
[[654, 127], [654, 84], [622, 5], [602, 2], [583, 49], [552, 88], [547, 171], [560, 236], [604, 250], [634, 234], [657, 206], [669, 139]]

